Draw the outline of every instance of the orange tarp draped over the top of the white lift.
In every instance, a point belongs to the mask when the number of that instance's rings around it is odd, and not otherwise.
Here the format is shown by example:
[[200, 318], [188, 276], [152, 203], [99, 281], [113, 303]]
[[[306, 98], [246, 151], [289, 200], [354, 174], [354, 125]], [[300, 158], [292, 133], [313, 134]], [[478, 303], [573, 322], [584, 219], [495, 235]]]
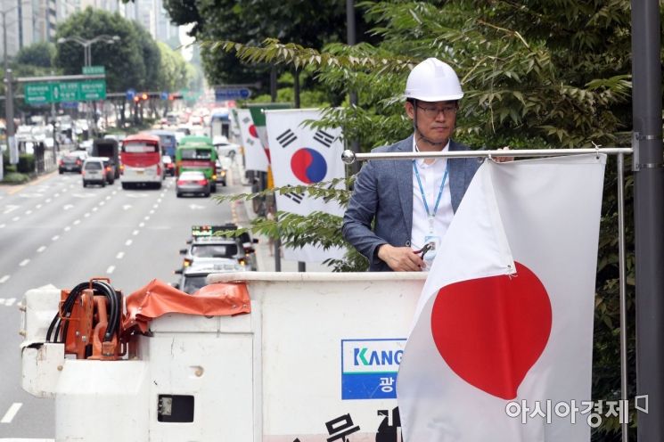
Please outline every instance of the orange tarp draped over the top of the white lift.
[[249, 291], [244, 282], [209, 284], [189, 295], [154, 279], [127, 296], [126, 300], [127, 316], [122, 323], [124, 333], [136, 327], [147, 332], [152, 319], [168, 313], [205, 316], [251, 313]]

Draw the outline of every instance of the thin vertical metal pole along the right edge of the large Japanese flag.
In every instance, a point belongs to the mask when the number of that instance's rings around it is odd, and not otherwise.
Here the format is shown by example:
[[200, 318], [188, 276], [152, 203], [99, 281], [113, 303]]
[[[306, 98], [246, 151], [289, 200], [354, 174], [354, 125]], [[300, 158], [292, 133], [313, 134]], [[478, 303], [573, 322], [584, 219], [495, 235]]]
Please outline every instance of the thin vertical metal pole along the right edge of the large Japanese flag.
[[[624, 154], [618, 154], [618, 268], [620, 294], [620, 398], [627, 405], [627, 289], [625, 264], [625, 189], [624, 189]], [[627, 415], [629, 411], [627, 410]], [[629, 440], [629, 420], [620, 424], [622, 442]]]

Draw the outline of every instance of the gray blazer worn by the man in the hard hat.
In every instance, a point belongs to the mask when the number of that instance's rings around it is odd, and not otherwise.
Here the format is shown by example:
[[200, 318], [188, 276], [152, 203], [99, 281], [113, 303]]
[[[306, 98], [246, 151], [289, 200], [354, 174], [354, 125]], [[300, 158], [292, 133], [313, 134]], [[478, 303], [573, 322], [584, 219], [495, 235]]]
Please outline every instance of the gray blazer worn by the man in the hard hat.
[[[468, 151], [469, 148], [450, 141], [449, 150]], [[413, 135], [391, 146], [382, 146], [373, 150], [373, 152], [398, 151], [413, 151]], [[481, 162], [475, 158], [448, 159], [448, 161], [452, 209], [456, 212]], [[395, 247], [410, 246], [412, 228], [412, 161], [368, 161], [357, 176], [355, 190], [343, 217], [343, 237], [369, 259], [370, 271], [389, 271], [391, 270], [389, 266], [377, 256], [378, 246], [386, 243]]]

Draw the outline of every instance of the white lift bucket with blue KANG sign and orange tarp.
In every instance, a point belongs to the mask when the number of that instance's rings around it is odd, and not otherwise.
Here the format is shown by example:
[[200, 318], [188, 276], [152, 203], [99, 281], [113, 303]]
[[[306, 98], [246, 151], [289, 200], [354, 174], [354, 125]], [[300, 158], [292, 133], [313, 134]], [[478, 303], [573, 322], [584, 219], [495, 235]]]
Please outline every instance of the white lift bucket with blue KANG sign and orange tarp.
[[209, 274], [193, 295], [156, 280], [126, 297], [108, 280], [30, 290], [22, 388], [54, 397], [57, 441], [397, 442], [398, 365], [425, 277], [240, 272]]

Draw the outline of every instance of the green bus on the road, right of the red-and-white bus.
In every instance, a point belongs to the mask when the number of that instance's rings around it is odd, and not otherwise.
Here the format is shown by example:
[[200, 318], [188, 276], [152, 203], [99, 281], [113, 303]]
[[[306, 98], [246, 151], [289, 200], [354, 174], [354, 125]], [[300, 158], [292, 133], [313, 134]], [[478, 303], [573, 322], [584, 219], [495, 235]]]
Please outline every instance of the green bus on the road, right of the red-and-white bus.
[[199, 170], [210, 182], [212, 192], [217, 192], [217, 149], [209, 136], [187, 135], [176, 149], [176, 176], [186, 170]]

